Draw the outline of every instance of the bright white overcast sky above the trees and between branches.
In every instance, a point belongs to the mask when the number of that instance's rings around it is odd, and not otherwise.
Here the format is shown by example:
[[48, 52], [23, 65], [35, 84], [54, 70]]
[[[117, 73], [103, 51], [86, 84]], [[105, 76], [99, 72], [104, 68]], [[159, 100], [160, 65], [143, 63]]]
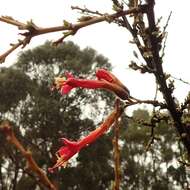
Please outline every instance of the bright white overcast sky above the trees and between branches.
[[[169, 4], [171, 3], [171, 4]], [[86, 5], [92, 10], [101, 12], [112, 12], [110, 0], [2, 0], [1, 15], [12, 16], [19, 21], [32, 19], [35, 24], [46, 27], [61, 25], [63, 20], [76, 21], [76, 11], [71, 10], [71, 5]], [[190, 43], [190, 1], [165, 1], [156, 0], [156, 16], [163, 16], [162, 23], [166, 21], [170, 11], [173, 12], [168, 26], [168, 40], [164, 69], [173, 76], [190, 82], [189, 75], [189, 43]], [[16, 42], [18, 30], [16, 27], [0, 23], [0, 53], [3, 53], [10, 43]], [[56, 40], [61, 33], [35, 37], [27, 48], [32, 48], [45, 42], [45, 40]], [[128, 69], [130, 60], [134, 59], [134, 45], [129, 44], [130, 34], [121, 27], [114, 24], [99, 23], [81, 29], [72, 40], [81, 48], [90, 46], [97, 52], [106, 56], [114, 66], [114, 73], [127, 85], [132, 96], [140, 99], [153, 99], [155, 93], [154, 78], [148, 74], [141, 75]], [[18, 51], [9, 56], [5, 64], [16, 60]], [[190, 86], [176, 81], [175, 95], [181, 101], [187, 95]]]

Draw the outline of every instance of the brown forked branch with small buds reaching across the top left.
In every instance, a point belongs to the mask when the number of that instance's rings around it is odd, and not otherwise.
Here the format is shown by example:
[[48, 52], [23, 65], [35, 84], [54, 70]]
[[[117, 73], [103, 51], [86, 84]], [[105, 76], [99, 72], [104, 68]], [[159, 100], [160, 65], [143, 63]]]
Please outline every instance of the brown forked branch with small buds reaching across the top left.
[[24, 36], [24, 39], [18, 40], [18, 43], [16, 44], [11, 44], [12, 47], [9, 50], [7, 50], [5, 53], [0, 55], [0, 63], [4, 62], [6, 57], [18, 47], [22, 46], [22, 48], [24, 48], [27, 44], [30, 43], [31, 39], [35, 36], [52, 33], [52, 32], [66, 31], [63, 37], [55, 41], [55, 45], [57, 45], [61, 43], [65, 37], [69, 35], [74, 35], [80, 28], [83, 28], [92, 24], [96, 24], [99, 22], [103, 22], [103, 21], [112, 22], [114, 19], [122, 17], [124, 15], [144, 12], [145, 11], [144, 9], [145, 8], [143, 6], [139, 6], [139, 7], [129, 9], [129, 10], [123, 10], [114, 14], [104, 14], [102, 16], [95, 16], [95, 17], [92, 17], [92, 19], [90, 20], [81, 21], [76, 24], [72, 24], [66, 21], [64, 22], [64, 25], [48, 27], [48, 28], [38, 27], [32, 21], [25, 24], [13, 19], [12, 17], [2, 16], [0, 17], [1, 22], [5, 22], [7, 24], [17, 26], [19, 30], [27, 30], [27, 32], [20, 33], [20, 35]]

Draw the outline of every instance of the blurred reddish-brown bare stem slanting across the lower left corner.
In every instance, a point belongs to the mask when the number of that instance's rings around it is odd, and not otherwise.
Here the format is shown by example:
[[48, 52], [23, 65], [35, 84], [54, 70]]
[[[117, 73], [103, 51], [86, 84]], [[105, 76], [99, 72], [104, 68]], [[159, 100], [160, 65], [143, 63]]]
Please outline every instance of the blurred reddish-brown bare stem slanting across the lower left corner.
[[50, 190], [56, 190], [56, 187], [48, 179], [43, 170], [37, 165], [32, 157], [30, 151], [26, 150], [23, 145], [16, 138], [12, 126], [8, 122], [3, 122], [0, 125], [0, 131], [6, 135], [6, 139], [10, 144], [13, 144], [22, 154], [22, 156], [27, 160], [28, 168], [33, 171], [40, 179], [40, 182], [45, 185]]

